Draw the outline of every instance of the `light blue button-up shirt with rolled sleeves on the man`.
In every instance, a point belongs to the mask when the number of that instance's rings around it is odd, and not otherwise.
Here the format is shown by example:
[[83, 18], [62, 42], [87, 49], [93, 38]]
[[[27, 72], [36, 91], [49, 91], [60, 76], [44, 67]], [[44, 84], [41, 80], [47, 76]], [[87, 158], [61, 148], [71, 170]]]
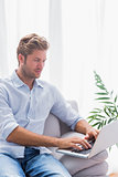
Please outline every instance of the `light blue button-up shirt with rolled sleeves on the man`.
[[[0, 80], [0, 153], [23, 157], [24, 146], [9, 143], [7, 137], [18, 126], [42, 135], [50, 113], [72, 129], [82, 119], [56, 87], [44, 81], [35, 80], [33, 88], [30, 90], [15, 71], [10, 79]], [[40, 148], [41, 153], [50, 153], [45, 147], [34, 148]]]

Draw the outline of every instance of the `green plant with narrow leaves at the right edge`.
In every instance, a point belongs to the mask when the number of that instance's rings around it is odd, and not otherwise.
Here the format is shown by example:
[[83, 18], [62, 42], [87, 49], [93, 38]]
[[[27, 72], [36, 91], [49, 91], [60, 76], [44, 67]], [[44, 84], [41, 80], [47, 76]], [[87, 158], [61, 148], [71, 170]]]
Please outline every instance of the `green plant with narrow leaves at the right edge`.
[[114, 91], [109, 92], [103, 83], [100, 76], [94, 71], [96, 86], [98, 92], [95, 93], [95, 98], [99, 103], [99, 107], [94, 108], [87, 117], [92, 126], [100, 129], [104, 125], [109, 124], [118, 118], [118, 103], [117, 95]]

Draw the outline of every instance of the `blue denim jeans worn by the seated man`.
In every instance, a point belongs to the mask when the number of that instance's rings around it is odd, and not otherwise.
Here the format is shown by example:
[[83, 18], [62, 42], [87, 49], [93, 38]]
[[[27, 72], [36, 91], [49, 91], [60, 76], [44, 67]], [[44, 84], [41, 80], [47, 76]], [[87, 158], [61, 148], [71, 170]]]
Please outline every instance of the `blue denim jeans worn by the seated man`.
[[0, 177], [71, 177], [66, 168], [51, 154], [26, 147], [24, 158], [0, 154]]

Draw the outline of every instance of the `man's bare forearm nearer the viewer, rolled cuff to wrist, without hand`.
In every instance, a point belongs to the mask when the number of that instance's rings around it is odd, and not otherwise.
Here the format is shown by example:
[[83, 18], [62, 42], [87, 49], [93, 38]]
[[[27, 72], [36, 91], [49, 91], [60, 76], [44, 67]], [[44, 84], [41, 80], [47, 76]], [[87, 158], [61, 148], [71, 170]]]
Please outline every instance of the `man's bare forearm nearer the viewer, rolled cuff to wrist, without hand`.
[[21, 126], [13, 129], [7, 137], [7, 142], [15, 143], [22, 146], [57, 146], [57, 138], [39, 135]]

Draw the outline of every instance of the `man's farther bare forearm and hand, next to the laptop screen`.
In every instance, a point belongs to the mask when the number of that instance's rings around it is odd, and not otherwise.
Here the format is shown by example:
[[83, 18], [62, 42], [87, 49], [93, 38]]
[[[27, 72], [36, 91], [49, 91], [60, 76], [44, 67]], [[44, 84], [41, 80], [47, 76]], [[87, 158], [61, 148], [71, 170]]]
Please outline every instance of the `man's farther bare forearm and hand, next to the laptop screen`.
[[85, 138], [86, 139], [90, 139], [93, 137], [97, 138], [97, 135], [99, 133], [98, 129], [93, 128], [87, 121], [85, 119], [81, 119], [76, 126], [75, 126], [75, 131], [82, 134], [85, 134]]

